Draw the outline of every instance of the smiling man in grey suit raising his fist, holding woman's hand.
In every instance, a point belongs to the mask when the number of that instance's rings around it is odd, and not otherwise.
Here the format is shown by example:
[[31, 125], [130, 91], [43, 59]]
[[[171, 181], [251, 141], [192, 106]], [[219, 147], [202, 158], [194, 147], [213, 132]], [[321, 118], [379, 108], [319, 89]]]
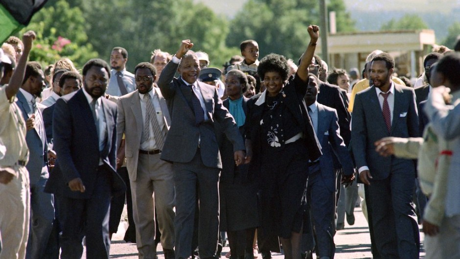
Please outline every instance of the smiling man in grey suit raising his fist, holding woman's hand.
[[[233, 144], [236, 165], [245, 162], [245, 146], [235, 121], [222, 106], [216, 88], [197, 81], [200, 62], [189, 50], [191, 47], [190, 40], [182, 41], [158, 80], [172, 119], [161, 159], [173, 163], [174, 169], [176, 259], [191, 255], [196, 197], [200, 215], [199, 253], [200, 258], [207, 259], [216, 258], [219, 229], [217, 184], [222, 162], [214, 120], [223, 127]], [[180, 78], [174, 78], [176, 70], [181, 74]]]

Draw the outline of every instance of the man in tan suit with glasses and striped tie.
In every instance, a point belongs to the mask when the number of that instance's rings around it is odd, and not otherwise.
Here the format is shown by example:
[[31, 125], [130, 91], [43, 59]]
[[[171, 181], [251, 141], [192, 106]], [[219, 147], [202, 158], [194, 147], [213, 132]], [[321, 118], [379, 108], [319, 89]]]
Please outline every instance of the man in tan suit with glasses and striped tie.
[[137, 90], [118, 101], [117, 143], [125, 133], [139, 258], [156, 258], [155, 207], [165, 259], [174, 259], [174, 178], [172, 164], [160, 159], [171, 119], [160, 89], [154, 87], [156, 76], [152, 64], [136, 66]]

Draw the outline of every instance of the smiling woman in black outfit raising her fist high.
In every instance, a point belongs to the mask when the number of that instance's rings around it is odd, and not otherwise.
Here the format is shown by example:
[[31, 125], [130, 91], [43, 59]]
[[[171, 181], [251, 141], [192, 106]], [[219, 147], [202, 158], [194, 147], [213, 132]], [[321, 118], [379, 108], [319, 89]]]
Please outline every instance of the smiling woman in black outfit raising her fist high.
[[303, 100], [318, 26], [310, 25], [308, 33], [310, 43], [295, 76], [288, 78], [284, 56], [269, 54], [260, 61], [257, 73], [266, 90], [247, 107], [246, 148], [252, 158], [250, 172], [259, 184], [261, 230], [276, 231], [285, 259], [300, 259], [308, 161], [321, 155]]

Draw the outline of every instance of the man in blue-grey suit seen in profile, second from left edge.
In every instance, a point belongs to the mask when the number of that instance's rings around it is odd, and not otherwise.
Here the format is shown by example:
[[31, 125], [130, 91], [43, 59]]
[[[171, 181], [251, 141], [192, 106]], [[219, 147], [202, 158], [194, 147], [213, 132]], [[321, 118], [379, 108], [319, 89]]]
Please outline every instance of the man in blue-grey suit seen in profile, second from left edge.
[[29, 147], [29, 162], [26, 165], [30, 178], [30, 233], [27, 242], [27, 259], [42, 258], [50, 238], [54, 221], [54, 199], [44, 188], [49, 177], [47, 162], [48, 146], [45, 124], [35, 98], [45, 86], [45, 76], [38, 62], [28, 62], [23, 85], [16, 95], [17, 104], [26, 120], [25, 140]]

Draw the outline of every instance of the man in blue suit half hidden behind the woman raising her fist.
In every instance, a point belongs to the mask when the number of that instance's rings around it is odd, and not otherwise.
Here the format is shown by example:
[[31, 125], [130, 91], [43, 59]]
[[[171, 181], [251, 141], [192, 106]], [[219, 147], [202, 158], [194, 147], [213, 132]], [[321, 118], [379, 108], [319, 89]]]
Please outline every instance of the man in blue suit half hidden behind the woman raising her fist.
[[[312, 120], [313, 128], [321, 144], [322, 156], [309, 163], [308, 204], [317, 240], [316, 255], [320, 259], [334, 258], [335, 244], [335, 190], [336, 173], [332, 156], [338, 158], [344, 168], [342, 180], [351, 183], [354, 180], [354, 166], [348, 148], [340, 135], [337, 111], [317, 102], [319, 79], [312, 73], [308, 76], [308, 88], [305, 103]], [[307, 240], [306, 240], [307, 241]], [[310, 240], [312, 241], [312, 240]], [[308, 250], [311, 250], [312, 243]]]

